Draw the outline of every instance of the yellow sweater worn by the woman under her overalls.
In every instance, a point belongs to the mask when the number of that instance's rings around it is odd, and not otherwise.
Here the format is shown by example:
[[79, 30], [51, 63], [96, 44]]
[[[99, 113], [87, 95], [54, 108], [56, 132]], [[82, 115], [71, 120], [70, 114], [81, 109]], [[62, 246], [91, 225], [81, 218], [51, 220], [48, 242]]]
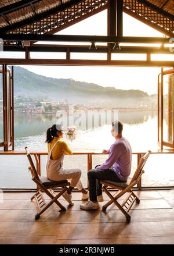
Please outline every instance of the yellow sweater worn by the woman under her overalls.
[[[53, 137], [53, 140], [50, 142], [50, 148], [53, 147], [53, 145], [56, 143], [57, 140], [60, 140], [60, 138]], [[48, 147], [48, 151], [49, 151], [49, 147]], [[66, 155], [73, 155], [73, 151], [68, 147], [67, 143], [65, 141], [60, 140], [59, 143], [57, 143], [53, 148], [51, 159], [53, 160], [59, 159], [61, 158], [63, 153]]]

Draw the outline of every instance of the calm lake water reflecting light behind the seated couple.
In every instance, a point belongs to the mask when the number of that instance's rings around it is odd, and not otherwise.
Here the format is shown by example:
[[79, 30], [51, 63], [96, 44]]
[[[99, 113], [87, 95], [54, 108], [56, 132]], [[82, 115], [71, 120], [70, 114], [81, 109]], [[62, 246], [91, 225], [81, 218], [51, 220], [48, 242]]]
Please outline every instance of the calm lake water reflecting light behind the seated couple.
[[[69, 116], [68, 116], [69, 117]], [[62, 120], [62, 119], [61, 119]], [[132, 151], [157, 150], [157, 111], [119, 111], [119, 120], [124, 122], [123, 135], [132, 145]], [[15, 149], [24, 150], [26, 145], [29, 150], [47, 150], [45, 144], [46, 129], [59, 118], [53, 114], [26, 114], [16, 113], [14, 116]], [[95, 123], [95, 122], [94, 122]], [[2, 129], [2, 115], [0, 116]], [[0, 130], [2, 136], [2, 130]], [[63, 140], [74, 152], [102, 152], [114, 143], [111, 136], [111, 122], [95, 126], [84, 125], [78, 127], [75, 136], [64, 135]], [[107, 155], [95, 155], [92, 166], [103, 163]], [[137, 157], [133, 155], [132, 173], [136, 169]], [[45, 174], [46, 156], [41, 157], [42, 173]], [[142, 186], [174, 186], [173, 154], [151, 155], [144, 168], [145, 174]], [[87, 184], [87, 156], [66, 156], [64, 168], [80, 168], [82, 170], [82, 183]], [[132, 175], [131, 173], [131, 175]], [[24, 156], [1, 156], [1, 188], [35, 188], [28, 172], [28, 160]]]

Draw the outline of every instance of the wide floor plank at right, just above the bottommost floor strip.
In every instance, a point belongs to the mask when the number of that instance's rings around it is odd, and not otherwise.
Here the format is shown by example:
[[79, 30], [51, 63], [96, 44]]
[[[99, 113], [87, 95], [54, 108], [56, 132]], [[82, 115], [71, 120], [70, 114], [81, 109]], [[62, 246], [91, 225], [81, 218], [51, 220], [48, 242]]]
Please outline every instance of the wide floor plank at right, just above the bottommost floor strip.
[[173, 236], [174, 222], [60, 224], [57, 239]]

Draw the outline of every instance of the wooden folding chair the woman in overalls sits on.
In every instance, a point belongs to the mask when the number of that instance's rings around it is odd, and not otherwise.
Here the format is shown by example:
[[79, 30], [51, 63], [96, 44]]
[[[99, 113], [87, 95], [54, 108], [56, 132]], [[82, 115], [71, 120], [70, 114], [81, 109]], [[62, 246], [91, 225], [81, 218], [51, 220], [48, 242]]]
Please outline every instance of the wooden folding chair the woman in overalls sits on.
[[[61, 180], [60, 182], [53, 182], [52, 180], [49, 180], [47, 177], [39, 176], [35, 168], [35, 165], [32, 161], [28, 148], [25, 147], [25, 150], [26, 150], [28, 161], [30, 162], [30, 167], [28, 167], [28, 169], [31, 172], [32, 180], [39, 187], [39, 190], [37, 191], [37, 193], [35, 193], [31, 197], [31, 200], [35, 199], [38, 206], [38, 213], [37, 215], [35, 215], [35, 219], [36, 220], [39, 219], [40, 215], [43, 214], [43, 212], [45, 212], [46, 209], [48, 209], [50, 205], [53, 204], [53, 202], [55, 202], [60, 207], [60, 211], [66, 211], [66, 208], [62, 204], [60, 204], [60, 202], [57, 199], [61, 195], [63, 195], [63, 193], [67, 190], [66, 186], [70, 186], [70, 183], [67, 180]], [[57, 187], [62, 188], [62, 190], [58, 194], [56, 194], [55, 191], [52, 190], [53, 188], [57, 188]], [[51, 199], [48, 204], [46, 204], [42, 191], [44, 191]]]

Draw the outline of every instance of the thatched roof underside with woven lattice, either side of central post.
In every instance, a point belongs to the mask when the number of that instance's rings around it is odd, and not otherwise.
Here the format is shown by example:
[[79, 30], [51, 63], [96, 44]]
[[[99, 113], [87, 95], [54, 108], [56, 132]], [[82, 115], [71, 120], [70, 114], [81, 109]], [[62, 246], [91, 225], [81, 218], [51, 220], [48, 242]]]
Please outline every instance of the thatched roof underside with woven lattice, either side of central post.
[[[174, 0], [123, 2], [125, 12], [173, 35]], [[108, 0], [1, 0], [0, 33], [55, 33], [106, 9], [107, 3]]]

